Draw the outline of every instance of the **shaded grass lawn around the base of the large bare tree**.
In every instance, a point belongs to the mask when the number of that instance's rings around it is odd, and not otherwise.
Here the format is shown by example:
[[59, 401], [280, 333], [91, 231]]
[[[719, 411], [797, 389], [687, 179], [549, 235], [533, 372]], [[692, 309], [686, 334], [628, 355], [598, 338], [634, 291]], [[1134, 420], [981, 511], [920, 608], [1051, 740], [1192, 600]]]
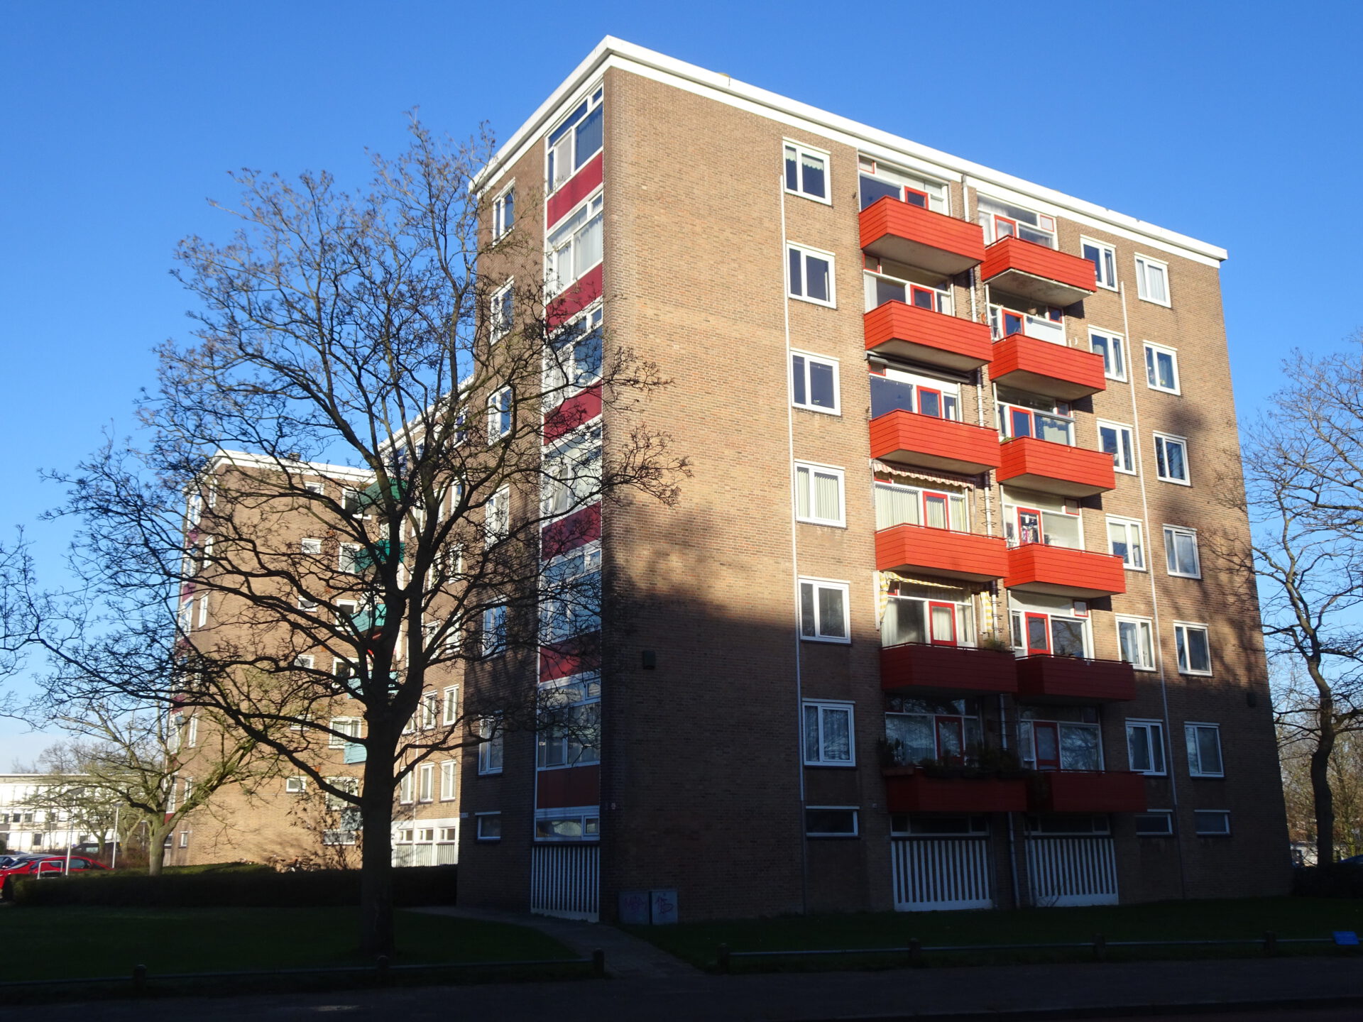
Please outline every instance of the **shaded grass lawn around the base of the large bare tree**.
[[[0, 909], [0, 982], [166, 973], [368, 965], [357, 909]], [[504, 923], [397, 913], [394, 965], [575, 958], [559, 942]]]

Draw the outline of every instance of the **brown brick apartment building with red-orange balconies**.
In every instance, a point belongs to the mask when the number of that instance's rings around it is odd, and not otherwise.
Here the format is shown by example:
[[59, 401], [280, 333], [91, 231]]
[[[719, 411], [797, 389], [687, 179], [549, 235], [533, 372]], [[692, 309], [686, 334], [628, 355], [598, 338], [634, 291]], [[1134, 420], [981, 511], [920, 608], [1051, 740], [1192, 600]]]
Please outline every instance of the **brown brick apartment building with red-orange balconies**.
[[[466, 903], [1285, 891], [1223, 249], [613, 38], [477, 187], [582, 347], [545, 458], [665, 427], [692, 476], [545, 529], [608, 595], [538, 680], [601, 736], [466, 758]], [[671, 386], [602, 402], [593, 337]]]

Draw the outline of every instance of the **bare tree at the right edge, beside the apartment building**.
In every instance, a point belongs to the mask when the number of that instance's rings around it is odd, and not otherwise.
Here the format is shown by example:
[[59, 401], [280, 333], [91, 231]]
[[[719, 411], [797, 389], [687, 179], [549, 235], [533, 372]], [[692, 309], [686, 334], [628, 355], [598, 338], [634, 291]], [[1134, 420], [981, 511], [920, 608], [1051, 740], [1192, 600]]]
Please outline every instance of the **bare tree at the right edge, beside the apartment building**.
[[1363, 730], [1363, 358], [1359, 342], [1295, 353], [1287, 386], [1246, 432], [1253, 549], [1228, 556], [1259, 578], [1270, 655], [1295, 684], [1278, 726], [1307, 751], [1317, 860], [1333, 861], [1330, 771], [1341, 736]]

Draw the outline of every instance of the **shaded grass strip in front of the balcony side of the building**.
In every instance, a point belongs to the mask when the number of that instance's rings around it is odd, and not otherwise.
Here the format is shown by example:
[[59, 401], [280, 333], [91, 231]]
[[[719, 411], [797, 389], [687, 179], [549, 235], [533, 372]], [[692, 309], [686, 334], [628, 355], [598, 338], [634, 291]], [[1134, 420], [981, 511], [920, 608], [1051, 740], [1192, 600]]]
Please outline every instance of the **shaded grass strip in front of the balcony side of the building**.
[[[690, 923], [675, 927], [630, 927], [635, 933], [701, 967], [713, 967], [718, 946], [733, 951], [793, 951], [821, 948], [923, 946], [1030, 944], [1107, 940], [1216, 940], [1257, 939], [1268, 929], [1278, 938], [1328, 938], [1336, 929], [1363, 931], [1363, 901], [1343, 898], [1242, 898], [1178, 901], [1152, 905], [1073, 909], [1018, 909], [1013, 912], [887, 912], [846, 916], [789, 916], [729, 923]], [[1311, 947], [1311, 946], [1304, 946]], [[1285, 946], [1284, 953], [1298, 950]], [[1112, 948], [1111, 959], [1135, 957], [1198, 957], [1205, 954], [1259, 954], [1255, 948], [1206, 951], [1193, 948]], [[998, 961], [1066, 961], [1090, 957], [1084, 951], [935, 954], [930, 963], [955, 965]], [[791, 959], [735, 959], [735, 972], [751, 969], [840, 969], [902, 963], [886, 955]]]

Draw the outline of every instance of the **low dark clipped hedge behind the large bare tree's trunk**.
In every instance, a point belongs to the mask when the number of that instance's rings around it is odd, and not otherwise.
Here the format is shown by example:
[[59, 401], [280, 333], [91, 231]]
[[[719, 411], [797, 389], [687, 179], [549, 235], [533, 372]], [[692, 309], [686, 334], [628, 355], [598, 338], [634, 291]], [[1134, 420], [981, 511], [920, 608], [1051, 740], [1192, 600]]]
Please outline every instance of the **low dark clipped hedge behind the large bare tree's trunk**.
[[[198, 873], [99, 873], [63, 878], [15, 878], [20, 906], [120, 905], [153, 908], [313, 908], [358, 905], [358, 869], [277, 873], [221, 869]], [[457, 865], [416, 865], [393, 871], [394, 905], [454, 905]]]

